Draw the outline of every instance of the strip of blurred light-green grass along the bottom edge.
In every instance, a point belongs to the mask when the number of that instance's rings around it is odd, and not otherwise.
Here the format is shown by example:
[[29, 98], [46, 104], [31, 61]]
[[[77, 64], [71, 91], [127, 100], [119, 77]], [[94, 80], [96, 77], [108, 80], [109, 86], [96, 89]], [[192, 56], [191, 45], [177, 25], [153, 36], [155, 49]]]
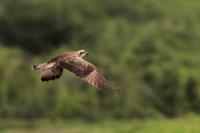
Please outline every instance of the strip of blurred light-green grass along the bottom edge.
[[157, 120], [0, 121], [0, 133], [199, 133], [200, 117]]

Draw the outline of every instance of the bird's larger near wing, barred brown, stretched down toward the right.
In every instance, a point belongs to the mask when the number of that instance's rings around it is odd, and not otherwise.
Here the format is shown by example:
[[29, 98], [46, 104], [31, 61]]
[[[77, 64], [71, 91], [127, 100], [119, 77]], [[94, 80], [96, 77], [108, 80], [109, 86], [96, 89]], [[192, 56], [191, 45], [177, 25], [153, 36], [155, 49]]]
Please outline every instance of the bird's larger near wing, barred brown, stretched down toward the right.
[[82, 58], [65, 60], [61, 62], [61, 65], [67, 70], [73, 72], [76, 76], [99, 89], [104, 91], [112, 90], [97, 68]]

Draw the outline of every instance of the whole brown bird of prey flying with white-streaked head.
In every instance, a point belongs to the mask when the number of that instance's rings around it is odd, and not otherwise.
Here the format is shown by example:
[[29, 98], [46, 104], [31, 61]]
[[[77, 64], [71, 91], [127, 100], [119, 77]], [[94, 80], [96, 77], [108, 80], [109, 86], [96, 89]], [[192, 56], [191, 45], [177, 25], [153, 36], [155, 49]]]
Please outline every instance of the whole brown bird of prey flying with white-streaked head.
[[83, 59], [85, 55], [88, 55], [85, 50], [64, 52], [46, 63], [33, 65], [32, 69], [40, 71], [42, 81], [49, 81], [60, 78], [65, 68], [96, 88], [111, 91], [112, 88], [98, 69]]

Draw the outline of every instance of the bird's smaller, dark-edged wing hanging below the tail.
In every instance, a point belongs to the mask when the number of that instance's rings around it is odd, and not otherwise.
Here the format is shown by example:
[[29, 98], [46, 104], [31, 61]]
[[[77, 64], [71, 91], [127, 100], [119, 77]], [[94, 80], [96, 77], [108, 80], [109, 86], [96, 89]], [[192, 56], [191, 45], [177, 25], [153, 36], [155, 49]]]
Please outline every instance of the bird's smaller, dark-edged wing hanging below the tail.
[[63, 68], [58, 64], [54, 64], [51, 67], [46, 67], [46, 69], [41, 70], [41, 80], [49, 81], [55, 80], [62, 75]]

